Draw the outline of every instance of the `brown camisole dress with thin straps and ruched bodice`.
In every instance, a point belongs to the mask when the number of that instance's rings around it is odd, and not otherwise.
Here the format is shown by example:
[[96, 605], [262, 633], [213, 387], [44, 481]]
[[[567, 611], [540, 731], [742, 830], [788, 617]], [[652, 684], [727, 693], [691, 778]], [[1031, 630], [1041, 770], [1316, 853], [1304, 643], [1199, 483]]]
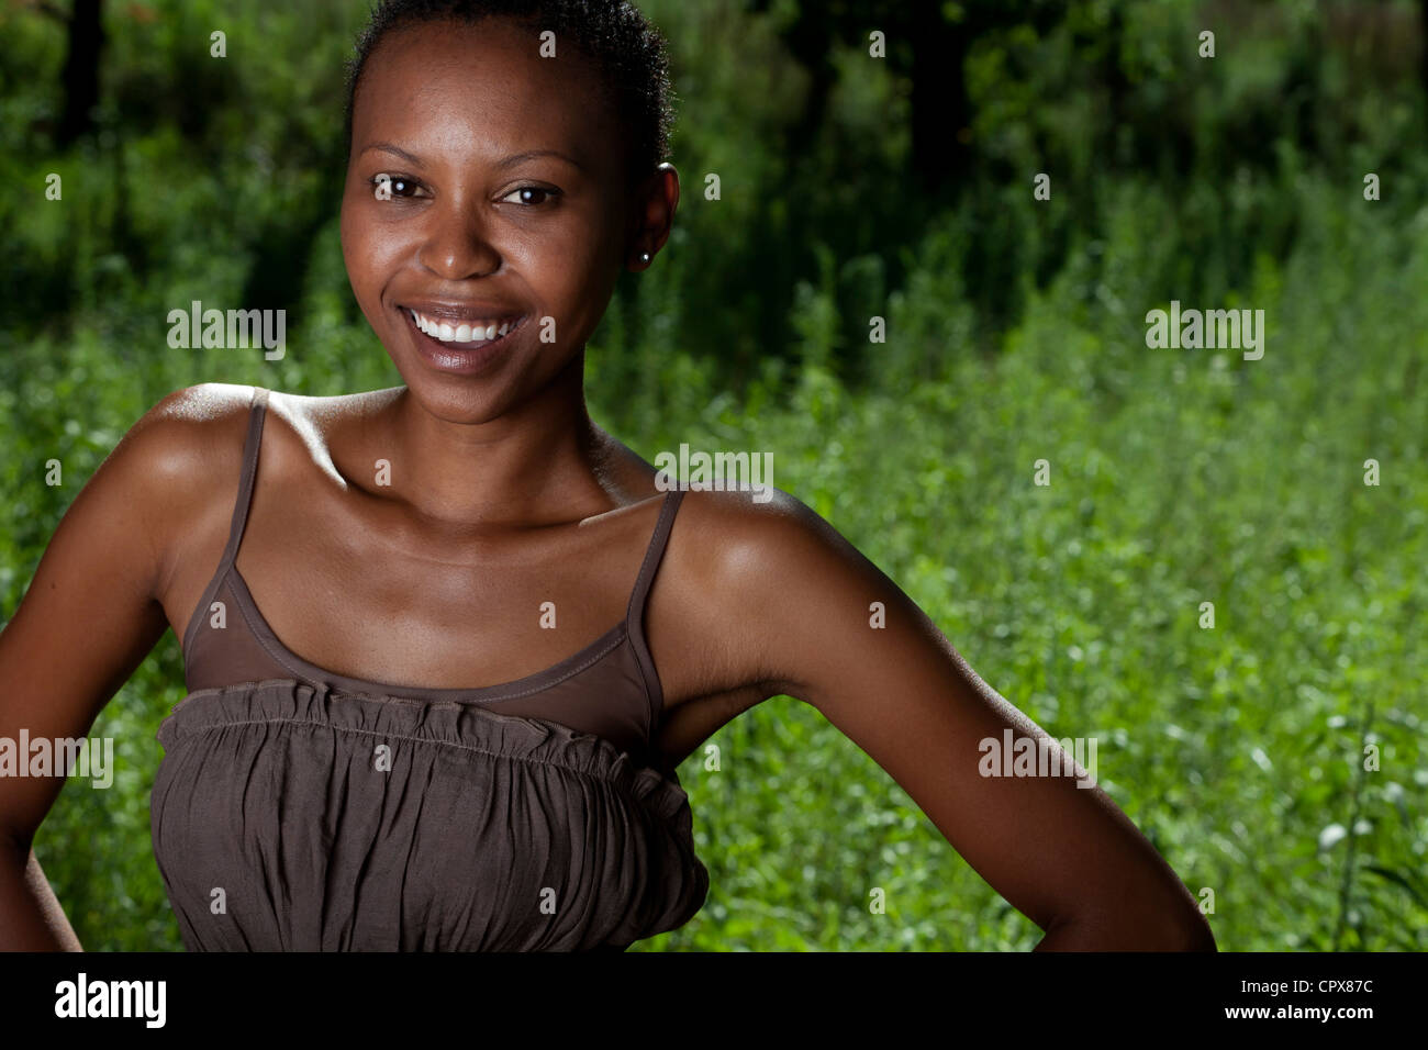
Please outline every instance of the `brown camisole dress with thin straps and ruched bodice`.
[[664, 499], [621, 623], [517, 681], [420, 689], [288, 650], [234, 560], [257, 476], [254, 390], [228, 543], [159, 727], [154, 857], [191, 951], [624, 950], [687, 923], [708, 871], [653, 744], [644, 606]]

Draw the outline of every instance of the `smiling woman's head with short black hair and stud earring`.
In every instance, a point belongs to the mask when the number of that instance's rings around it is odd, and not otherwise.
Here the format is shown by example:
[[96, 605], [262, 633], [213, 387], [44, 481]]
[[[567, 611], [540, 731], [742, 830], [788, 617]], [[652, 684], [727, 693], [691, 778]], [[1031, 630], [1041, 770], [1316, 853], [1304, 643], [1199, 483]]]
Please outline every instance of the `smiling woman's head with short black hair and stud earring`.
[[601, 7], [387, 4], [358, 41], [343, 257], [407, 386], [453, 420], [578, 383], [620, 270], [668, 236], [665, 60]]

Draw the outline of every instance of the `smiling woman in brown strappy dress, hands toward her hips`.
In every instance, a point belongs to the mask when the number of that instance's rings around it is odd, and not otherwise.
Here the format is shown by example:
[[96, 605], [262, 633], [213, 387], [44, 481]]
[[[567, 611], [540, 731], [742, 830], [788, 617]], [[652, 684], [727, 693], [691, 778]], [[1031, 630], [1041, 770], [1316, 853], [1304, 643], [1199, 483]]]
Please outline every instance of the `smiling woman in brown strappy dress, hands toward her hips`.
[[[665, 491], [590, 420], [585, 340], [678, 204], [665, 70], [613, 0], [383, 4], [341, 233], [404, 386], [154, 406], [0, 634], [0, 727], [84, 736], [174, 630], [190, 693], [153, 833], [194, 950], [674, 929], [708, 889], [674, 767], [780, 694], [871, 754], [1038, 949], [1212, 949], [1085, 770], [988, 776], [1004, 741], [1060, 751], [818, 516]], [[30, 851], [59, 786], [0, 787], [6, 947], [79, 947]]]

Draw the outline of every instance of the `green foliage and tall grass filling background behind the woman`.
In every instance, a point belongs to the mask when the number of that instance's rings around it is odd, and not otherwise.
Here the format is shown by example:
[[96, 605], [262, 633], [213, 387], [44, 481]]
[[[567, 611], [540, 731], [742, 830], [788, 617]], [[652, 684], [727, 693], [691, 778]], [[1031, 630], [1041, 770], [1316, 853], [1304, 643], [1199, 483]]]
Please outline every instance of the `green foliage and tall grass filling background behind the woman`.
[[[938, 199], [907, 179], [907, 86], [861, 41], [835, 46], [828, 109], [790, 156], [808, 76], [778, 27], [798, 4], [644, 7], [675, 53], [684, 196], [588, 347], [597, 421], [647, 459], [773, 451], [774, 483], [1000, 693], [1054, 736], [1101, 739], [1102, 787], [1214, 890], [1221, 947], [1428, 947], [1428, 157], [1411, 34], [1379, 26], [1408, 7], [948, 4], [978, 26], [972, 161]], [[99, 134], [56, 154], [63, 33], [0, 9], [0, 616], [170, 390], [400, 381], [336, 221], [361, 14], [109, 4]], [[1214, 60], [1195, 56], [1207, 17]], [[1385, 46], [1365, 59], [1364, 40]], [[44, 200], [51, 171], [63, 201]], [[287, 356], [170, 350], [167, 311], [193, 299], [287, 306]], [[1145, 311], [1171, 299], [1262, 309], [1264, 359], [1148, 350]], [[180, 946], [147, 804], [181, 681], [170, 634], [93, 729], [119, 741], [114, 787], [67, 786], [37, 837], [90, 949]], [[771, 700], [710, 744], [718, 770], [695, 753], [680, 771], [708, 904], [641, 949], [1037, 941], [811, 707]]]

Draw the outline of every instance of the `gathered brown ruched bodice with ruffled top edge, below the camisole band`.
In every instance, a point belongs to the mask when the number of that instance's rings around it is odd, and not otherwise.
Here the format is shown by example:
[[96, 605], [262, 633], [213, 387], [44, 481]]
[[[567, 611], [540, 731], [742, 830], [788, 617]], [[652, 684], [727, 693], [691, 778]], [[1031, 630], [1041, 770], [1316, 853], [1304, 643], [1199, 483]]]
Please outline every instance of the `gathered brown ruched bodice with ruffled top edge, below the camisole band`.
[[590, 950], [703, 906], [677, 774], [458, 703], [264, 681], [159, 730], [154, 854], [190, 950]]

